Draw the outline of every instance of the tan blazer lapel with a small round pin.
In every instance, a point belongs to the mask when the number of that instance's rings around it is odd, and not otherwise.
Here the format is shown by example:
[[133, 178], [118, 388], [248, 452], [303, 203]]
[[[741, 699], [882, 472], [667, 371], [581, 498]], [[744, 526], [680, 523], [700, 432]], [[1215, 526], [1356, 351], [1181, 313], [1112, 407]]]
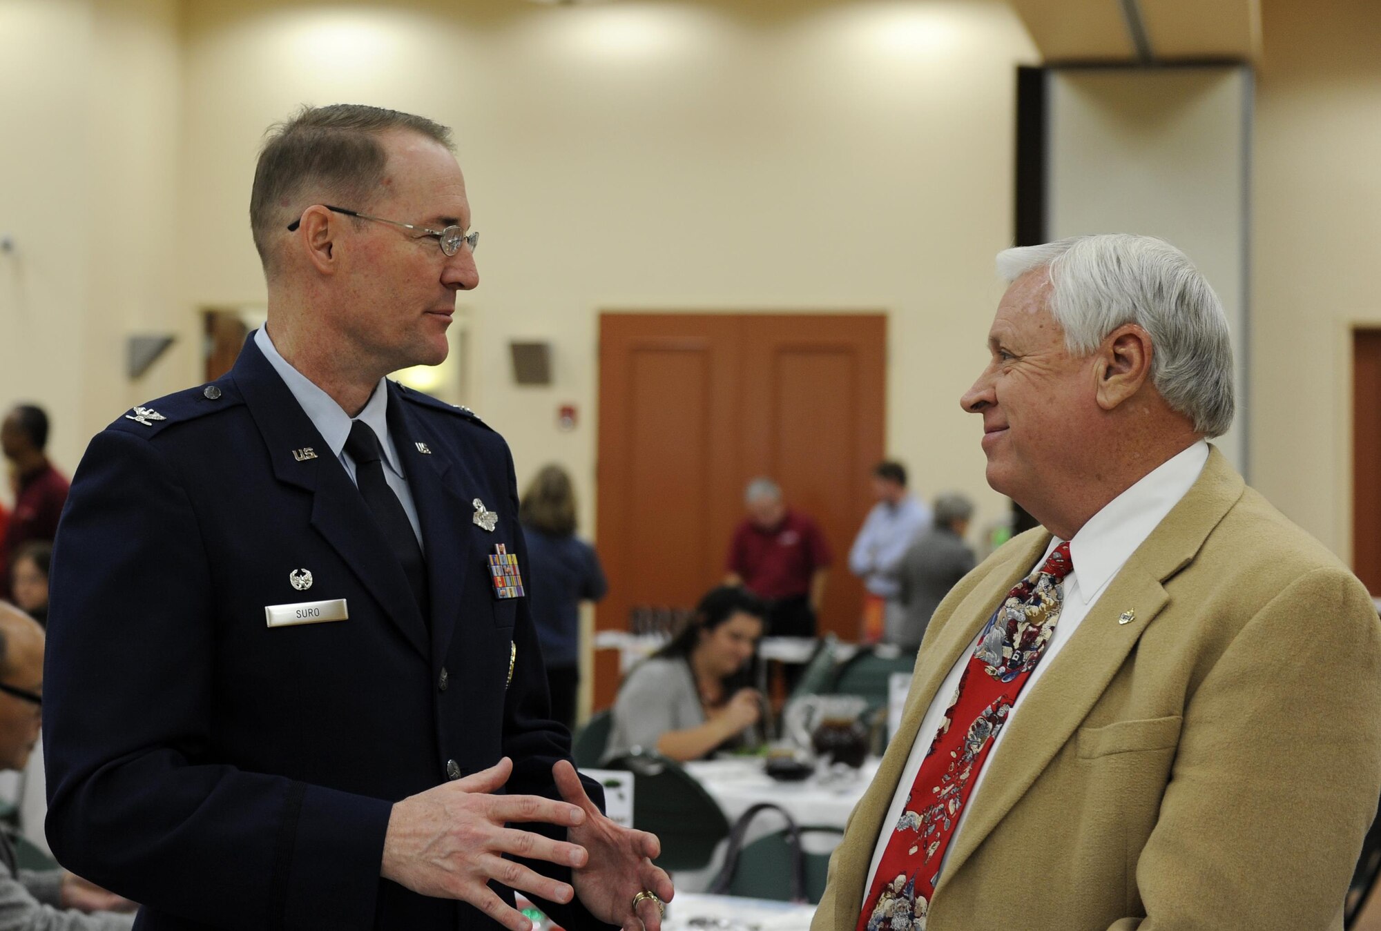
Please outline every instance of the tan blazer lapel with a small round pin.
[[[987, 762], [983, 791], [954, 838], [936, 895], [1069, 742], [1170, 602], [1163, 583], [1193, 561], [1243, 488], [1242, 477], [1211, 449], [1199, 479], [1113, 577], [1012, 718]], [[1134, 620], [1120, 623], [1128, 609]]]

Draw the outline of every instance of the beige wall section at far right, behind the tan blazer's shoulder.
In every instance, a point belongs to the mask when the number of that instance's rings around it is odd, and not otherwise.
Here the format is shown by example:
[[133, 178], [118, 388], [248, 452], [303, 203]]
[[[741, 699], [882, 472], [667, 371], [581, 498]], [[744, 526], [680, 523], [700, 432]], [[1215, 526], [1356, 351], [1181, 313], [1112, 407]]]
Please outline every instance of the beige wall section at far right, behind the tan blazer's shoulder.
[[1351, 326], [1381, 323], [1381, 10], [1264, 0], [1262, 28], [1251, 464], [1266, 497], [1348, 558]]

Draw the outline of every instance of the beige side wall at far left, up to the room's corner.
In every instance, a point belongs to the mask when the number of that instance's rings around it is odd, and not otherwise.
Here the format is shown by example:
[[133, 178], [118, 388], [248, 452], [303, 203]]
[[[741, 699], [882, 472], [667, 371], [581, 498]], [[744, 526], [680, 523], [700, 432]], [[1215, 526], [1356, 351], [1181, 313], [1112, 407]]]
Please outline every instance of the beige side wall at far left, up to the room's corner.
[[68, 470], [151, 391], [126, 333], [177, 314], [178, 43], [175, 0], [0, 0], [0, 403], [47, 406]]

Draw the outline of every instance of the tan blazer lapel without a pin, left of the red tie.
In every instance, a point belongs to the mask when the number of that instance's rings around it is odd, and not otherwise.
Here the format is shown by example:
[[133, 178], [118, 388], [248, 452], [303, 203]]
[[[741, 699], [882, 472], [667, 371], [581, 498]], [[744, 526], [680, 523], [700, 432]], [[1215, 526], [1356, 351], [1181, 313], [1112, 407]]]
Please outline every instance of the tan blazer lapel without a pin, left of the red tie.
[[838, 863], [833, 869], [833, 877], [838, 884], [834, 901], [836, 927], [852, 928], [858, 924], [873, 851], [884, 829], [882, 819], [887, 818], [892, 798], [899, 790], [906, 760], [917, 739], [929, 740], [934, 736], [920, 733], [921, 718], [929, 710], [956, 660], [974, 649], [978, 631], [997, 609], [998, 601], [1030, 572], [1048, 543], [1048, 533], [1032, 533], [1029, 537], [1014, 540], [1008, 546], [1010, 553], [998, 557], [1000, 562], [993, 565], [985, 579], [949, 611], [947, 617], [936, 616], [931, 622], [935, 624], [934, 638], [927, 635], [917, 656], [900, 728], [888, 742], [873, 783], [851, 815], [849, 834], [858, 840], [838, 848]]

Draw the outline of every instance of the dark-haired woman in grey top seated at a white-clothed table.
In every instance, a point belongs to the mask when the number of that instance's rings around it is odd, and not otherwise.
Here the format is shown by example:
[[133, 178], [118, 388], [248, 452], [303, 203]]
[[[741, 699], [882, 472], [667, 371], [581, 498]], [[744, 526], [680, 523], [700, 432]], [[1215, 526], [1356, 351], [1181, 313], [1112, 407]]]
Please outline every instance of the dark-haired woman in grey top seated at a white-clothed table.
[[700, 760], [750, 738], [762, 695], [749, 688], [766, 606], [736, 586], [711, 590], [685, 630], [639, 663], [613, 704], [605, 758], [632, 747]]

